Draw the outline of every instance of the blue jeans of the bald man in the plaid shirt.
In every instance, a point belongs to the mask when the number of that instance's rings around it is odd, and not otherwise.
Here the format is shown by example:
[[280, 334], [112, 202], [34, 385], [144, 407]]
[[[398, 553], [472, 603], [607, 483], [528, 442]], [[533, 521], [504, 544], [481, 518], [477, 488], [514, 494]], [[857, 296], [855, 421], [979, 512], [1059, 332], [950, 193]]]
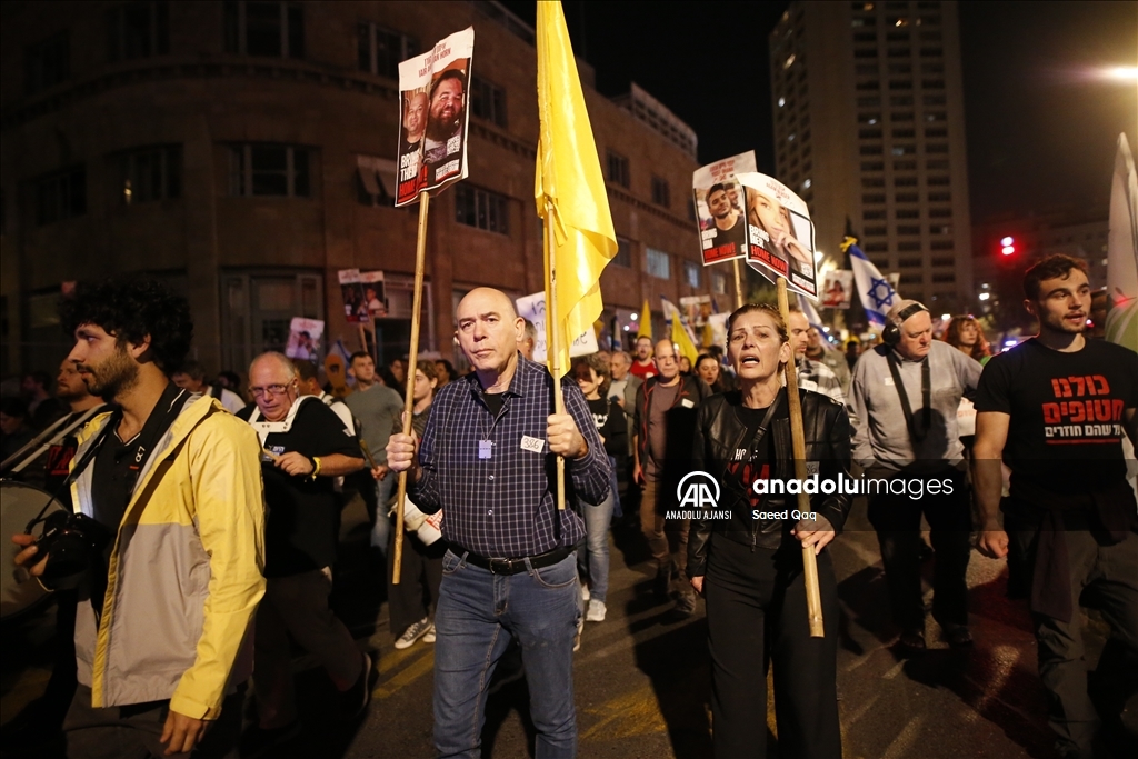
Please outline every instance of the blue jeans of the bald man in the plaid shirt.
[[521, 644], [537, 759], [577, 754], [572, 642], [576, 556], [518, 575], [493, 575], [447, 551], [435, 612], [435, 749], [481, 756], [486, 687], [511, 638]]

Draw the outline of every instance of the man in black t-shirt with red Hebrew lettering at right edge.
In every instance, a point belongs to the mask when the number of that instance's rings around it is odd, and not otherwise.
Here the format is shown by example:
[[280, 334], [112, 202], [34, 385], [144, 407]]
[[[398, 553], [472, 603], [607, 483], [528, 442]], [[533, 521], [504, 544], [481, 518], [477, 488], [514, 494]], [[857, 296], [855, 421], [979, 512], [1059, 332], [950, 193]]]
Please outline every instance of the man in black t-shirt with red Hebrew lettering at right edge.
[[[1087, 693], [1083, 593], [1102, 602], [1114, 641], [1138, 653], [1138, 518], [1122, 453], [1123, 435], [1138, 439], [1138, 354], [1085, 337], [1083, 262], [1045, 258], [1028, 270], [1024, 291], [1039, 335], [988, 362], [975, 401], [978, 547], [998, 559], [1011, 542], [1009, 560], [1023, 560], [1056, 748], [1090, 757], [1098, 716]], [[1001, 459], [1012, 469], [1003, 502]]]

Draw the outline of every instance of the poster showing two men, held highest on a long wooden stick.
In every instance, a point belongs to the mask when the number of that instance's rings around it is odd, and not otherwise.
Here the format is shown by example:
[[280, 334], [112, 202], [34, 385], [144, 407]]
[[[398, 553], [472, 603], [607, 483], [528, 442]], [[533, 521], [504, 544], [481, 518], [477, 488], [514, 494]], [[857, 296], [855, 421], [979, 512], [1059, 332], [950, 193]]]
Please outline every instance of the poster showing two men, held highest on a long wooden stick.
[[475, 27], [469, 26], [399, 64], [396, 206], [467, 178], [473, 50]]

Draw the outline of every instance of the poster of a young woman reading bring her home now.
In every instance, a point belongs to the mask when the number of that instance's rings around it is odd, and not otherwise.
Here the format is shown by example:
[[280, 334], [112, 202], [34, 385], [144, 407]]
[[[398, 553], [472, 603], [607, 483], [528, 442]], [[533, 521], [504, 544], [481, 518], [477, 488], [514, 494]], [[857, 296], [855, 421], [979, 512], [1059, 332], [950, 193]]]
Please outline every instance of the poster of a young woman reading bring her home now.
[[740, 173], [747, 193], [747, 265], [772, 282], [818, 298], [814, 222], [806, 201], [773, 176]]

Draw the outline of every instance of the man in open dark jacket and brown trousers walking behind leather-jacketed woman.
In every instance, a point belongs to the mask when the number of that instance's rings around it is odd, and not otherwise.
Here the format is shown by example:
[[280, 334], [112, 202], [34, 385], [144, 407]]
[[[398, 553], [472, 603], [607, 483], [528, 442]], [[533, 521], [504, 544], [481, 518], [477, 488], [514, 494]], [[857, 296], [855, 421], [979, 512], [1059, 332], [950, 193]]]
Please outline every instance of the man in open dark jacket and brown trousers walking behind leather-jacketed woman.
[[676, 346], [670, 339], [655, 344], [655, 369], [658, 374], [650, 377], [636, 390], [633, 476], [644, 486], [641, 530], [657, 561], [655, 592], [661, 600], [666, 600], [675, 585], [676, 611], [687, 617], [695, 611], [695, 593], [684, 575], [690, 520], [677, 520], [669, 530], [676, 544], [673, 559], [669, 536], [665, 533], [665, 515], [677, 508], [676, 487], [679, 482], [673, 475], [684, 469], [676, 462], [687, 461], [691, 456], [695, 410], [703, 398], [711, 395], [711, 388], [699, 377], [679, 373]]

